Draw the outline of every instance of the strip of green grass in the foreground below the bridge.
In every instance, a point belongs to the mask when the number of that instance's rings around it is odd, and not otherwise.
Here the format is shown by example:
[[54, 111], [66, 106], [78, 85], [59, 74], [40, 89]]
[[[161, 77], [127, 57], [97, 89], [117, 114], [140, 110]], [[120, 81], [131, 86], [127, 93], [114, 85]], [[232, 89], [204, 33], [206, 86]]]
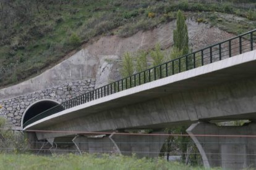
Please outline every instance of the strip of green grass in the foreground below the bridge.
[[137, 159], [111, 155], [11, 155], [0, 154], [0, 169], [204, 169], [162, 159]]

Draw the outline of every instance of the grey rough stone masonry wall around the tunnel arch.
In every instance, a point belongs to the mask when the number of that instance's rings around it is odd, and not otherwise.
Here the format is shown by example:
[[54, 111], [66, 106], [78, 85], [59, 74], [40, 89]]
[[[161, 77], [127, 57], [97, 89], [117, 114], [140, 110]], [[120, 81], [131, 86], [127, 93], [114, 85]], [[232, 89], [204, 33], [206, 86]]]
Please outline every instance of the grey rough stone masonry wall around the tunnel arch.
[[20, 126], [24, 111], [37, 100], [53, 99], [61, 103], [85, 92], [92, 91], [94, 87], [94, 79], [83, 79], [30, 94], [20, 95], [8, 100], [1, 101], [0, 99], [0, 106], [2, 106], [2, 108], [0, 107], [0, 116], [7, 118], [12, 126]]

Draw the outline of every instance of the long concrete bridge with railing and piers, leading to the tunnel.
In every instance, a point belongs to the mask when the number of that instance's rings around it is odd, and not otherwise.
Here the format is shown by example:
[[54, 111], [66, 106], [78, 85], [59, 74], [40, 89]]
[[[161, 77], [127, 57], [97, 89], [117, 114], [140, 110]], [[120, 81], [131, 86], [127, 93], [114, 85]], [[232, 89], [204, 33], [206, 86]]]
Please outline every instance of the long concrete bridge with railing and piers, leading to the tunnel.
[[[61, 137], [66, 137], [67, 140], [72, 140], [77, 148], [80, 146], [79, 141], [100, 140], [89, 139], [87, 136], [81, 136], [82, 134], [79, 136], [77, 132], [113, 132], [108, 139], [103, 137], [101, 140], [111, 140], [119, 152], [125, 154], [124, 150], [132, 150], [132, 146], [129, 148], [116, 144], [125, 140], [115, 137], [116, 131], [149, 128], [159, 130], [176, 124], [192, 124], [187, 132], [200, 150], [205, 166], [255, 166], [255, 154], [244, 158], [246, 161], [223, 161], [226, 152], [241, 152], [241, 147], [226, 146], [228, 139], [221, 140], [216, 136], [211, 140], [218, 142], [209, 147], [202, 145], [202, 141], [208, 139], [193, 136], [255, 135], [255, 33], [256, 30], [253, 30], [192, 52], [55, 105], [41, 113], [30, 113], [30, 118], [22, 118], [22, 128], [25, 131], [38, 130], [37, 140], [48, 140], [51, 144]], [[25, 115], [26, 113], [23, 117]], [[210, 123], [235, 119], [249, 119], [251, 123], [236, 127], [218, 127]], [[156, 156], [166, 139], [164, 136], [130, 138], [162, 141], [151, 148], [140, 146], [141, 150], [149, 148], [155, 151], [155, 154], [146, 156]], [[242, 139], [234, 137], [233, 140]], [[242, 152], [256, 153], [256, 139], [245, 137], [243, 140], [246, 144], [242, 145]], [[206, 155], [206, 152], [220, 154], [213, 156]], [[213, 157], [215, 159], [211, 159]]]

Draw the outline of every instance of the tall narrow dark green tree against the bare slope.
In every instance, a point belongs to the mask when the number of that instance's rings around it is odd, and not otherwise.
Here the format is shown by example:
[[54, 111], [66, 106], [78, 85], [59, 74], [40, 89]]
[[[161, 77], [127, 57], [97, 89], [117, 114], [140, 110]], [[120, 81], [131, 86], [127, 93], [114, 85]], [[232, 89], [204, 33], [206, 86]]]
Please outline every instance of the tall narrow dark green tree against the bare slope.
[[178, 51], [182, 51], [182, 55], [186, 55], [189, 52], [187, 25], [181, 10], [177, 12], [177, 28], [173, 31], [173, 41], [174, 47], [177, 48]]

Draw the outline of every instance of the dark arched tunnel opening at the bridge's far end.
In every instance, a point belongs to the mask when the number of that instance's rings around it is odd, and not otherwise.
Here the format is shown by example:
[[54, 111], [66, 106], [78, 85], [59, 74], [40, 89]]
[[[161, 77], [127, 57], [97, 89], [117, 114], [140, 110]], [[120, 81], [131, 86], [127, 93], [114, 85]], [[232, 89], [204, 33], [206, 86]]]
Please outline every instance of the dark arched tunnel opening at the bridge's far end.
[[27, 111], [25, 111], [24, 118], [23, 118], [23, 124], [28, 121], [29, 119], [33, 118], [34, 116], [40, 114], [41, 112], [48, 110], [51, 107], [54, 107], [58, 105], [59, 103], [54, 102], [52, 100], [43, 100], [40, 102], [37, 102], [33, 104], [30, 108], [28, 108]]

